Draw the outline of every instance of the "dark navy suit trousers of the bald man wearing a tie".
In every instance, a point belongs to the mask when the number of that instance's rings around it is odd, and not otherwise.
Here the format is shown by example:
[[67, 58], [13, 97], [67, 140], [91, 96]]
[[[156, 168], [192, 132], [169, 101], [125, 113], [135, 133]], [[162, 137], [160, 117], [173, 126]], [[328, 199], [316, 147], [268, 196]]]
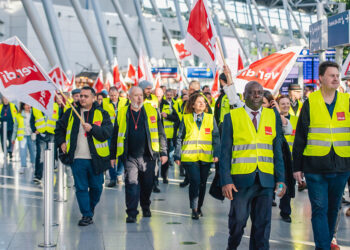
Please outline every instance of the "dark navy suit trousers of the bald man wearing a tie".
[[262, 187], [258, 176], [252, 186], [238, 188], [238, 192], [233, 194], [228, 223], [230, 236], [227, 250], [238, 248], [249, 215], [252, 221], [249, 249], [269, 249], [272, 195], [273, 188]]

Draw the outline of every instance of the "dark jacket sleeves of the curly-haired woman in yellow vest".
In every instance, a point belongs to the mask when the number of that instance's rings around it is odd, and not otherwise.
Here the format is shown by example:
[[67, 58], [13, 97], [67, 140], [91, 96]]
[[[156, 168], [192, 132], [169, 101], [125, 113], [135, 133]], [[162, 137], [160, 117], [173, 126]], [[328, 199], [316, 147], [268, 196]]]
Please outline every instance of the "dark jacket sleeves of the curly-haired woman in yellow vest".
[[[219, 157], [220, 156], [220, 135], [219, 135], [219, 129], [216, 125], [215, 119], [213, 119], [213, 131], [212, 131], [212, 140], [213, 140], [213, 157]], [[186, 127], [185, 123], [182, 120], [179, 127], [179, 132], [176, 137], [176, 144], [175, 144], [175, 153], [174, 153], [174, 160], [181, 160], [181, 146], [182, 142], [186, 137]]]

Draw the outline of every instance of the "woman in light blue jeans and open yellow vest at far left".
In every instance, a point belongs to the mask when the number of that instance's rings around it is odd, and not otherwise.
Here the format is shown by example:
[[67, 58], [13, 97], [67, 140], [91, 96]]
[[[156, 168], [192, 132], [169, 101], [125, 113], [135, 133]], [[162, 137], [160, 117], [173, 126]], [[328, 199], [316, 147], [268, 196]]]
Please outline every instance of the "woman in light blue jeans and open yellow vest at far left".
[[20, 174], [24, 173], [27, 167], [27, 152], [29, 151], [30, 163], [34, 167], [35, 163], [35, 139], [36, 135], [30, 128], [30, 116], [32, 108], [25, 103], [20, 104], [17, 115], [17, 140], [19, 141], [19, 153], [21, 156]]

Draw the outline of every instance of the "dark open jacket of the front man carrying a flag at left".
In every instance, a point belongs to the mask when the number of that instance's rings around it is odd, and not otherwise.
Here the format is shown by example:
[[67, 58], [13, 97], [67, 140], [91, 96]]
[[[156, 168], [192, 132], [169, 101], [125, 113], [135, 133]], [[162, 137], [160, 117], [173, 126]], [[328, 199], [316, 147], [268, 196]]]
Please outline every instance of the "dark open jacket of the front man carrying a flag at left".
[[[80, 113], [81, 106], [78, 105], [76, 109], [78, 113]], [[94, 116], [91, 114], [94, 114], [96, 109], [102, 112], [103, 121], [101, 126], [98, 126], [92, 123]], [[61, 145], [66, 142], [66, 131], [68, 127], [68, 119], [70, 117], [70, 114], [72, 114], [74, 119], [72, 131], [71, 131], [70, 150], [68, 154], [64, 154], [61, 151]], [[97, 102], [95, 102], [92, 105], [92, 108], [89, 112], [87, 111], [84, 112], [84, 116], [85, 116], [84, 120], [88, 119], [87, 123], [92, 125], [92, 129], [90, 130], [90, 132], [87, 133], [87, 140], [88, 140], [91, 159], [92, 159], [92, 167], [95, 174], [100, 174], [110, 168], [111, 166], [110, 157], [109, 156], [100, 157], [97, 154], [92, 137], [95, 137], [95, 139], [101, 142], [110, 139], [113, 133], [113, 125], [111, 123], [109, 114], [106, 111], [104, 111], [102, 108], [100, 108]], [[75, 114], [75, 112], [72, 110], [72, 108], [68, 109], [56, 123], [55, 141], [57, 146], [60, 149], [60, 159], [64, 164], [71, 165], [74, 161], [74, 153], [77, 147], [79, 127], [80, 127], [80, 120]]]

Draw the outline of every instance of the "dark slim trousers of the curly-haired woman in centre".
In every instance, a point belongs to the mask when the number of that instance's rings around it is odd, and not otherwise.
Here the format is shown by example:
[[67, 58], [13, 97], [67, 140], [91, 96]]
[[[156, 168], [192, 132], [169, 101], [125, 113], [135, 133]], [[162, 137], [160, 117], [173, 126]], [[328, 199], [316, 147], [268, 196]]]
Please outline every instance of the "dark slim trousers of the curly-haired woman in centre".
[[183, 162], [186, 166], [187, 176], [190, 182], [188, 188], [190, 208], [200, 209], [203, 206], [207, 179], [211, 163], [208, 162]]

